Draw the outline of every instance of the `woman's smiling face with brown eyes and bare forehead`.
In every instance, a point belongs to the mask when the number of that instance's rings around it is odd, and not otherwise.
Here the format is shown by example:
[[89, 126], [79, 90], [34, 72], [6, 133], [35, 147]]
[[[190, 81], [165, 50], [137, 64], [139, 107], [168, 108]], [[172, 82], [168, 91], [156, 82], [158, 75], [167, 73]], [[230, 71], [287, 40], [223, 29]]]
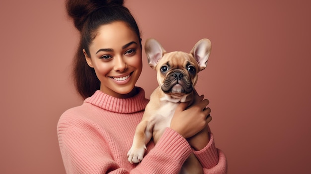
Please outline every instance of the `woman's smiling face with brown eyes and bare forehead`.
[[135, 84], [142, 72], [140, 38], [124, 22], [102, 25], [89, 46], [90, 58], [100, 81], [100, 90], [118, 98], [136, 94]]

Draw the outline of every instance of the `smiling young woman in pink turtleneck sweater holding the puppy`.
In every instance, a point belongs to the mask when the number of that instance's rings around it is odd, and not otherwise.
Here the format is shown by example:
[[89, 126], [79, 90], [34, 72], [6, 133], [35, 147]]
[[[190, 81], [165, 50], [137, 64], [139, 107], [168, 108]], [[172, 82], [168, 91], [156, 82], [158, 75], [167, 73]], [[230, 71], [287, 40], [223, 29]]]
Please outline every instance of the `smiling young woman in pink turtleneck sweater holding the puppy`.
[[148, 103], [135, 86], [142, 72], [140, 31], [123, 0], [67, 0], [80, 32], [74, 66], [81, 106], [58, 122], [59, 145], [68, 174], [178, 174], [193, 152], [204, 174], [226, 174], [224, 153], [215, 147], [203, 96], [177, 108], [170, 127], [143, 161], [131, 164], [127, 152]]

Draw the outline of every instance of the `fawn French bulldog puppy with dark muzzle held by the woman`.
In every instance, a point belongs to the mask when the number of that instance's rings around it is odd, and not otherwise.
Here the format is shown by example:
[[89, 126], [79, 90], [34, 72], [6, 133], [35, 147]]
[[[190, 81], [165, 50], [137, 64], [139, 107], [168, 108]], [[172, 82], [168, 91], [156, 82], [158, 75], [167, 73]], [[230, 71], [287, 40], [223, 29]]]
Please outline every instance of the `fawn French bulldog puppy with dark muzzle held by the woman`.
[[[175, 108], [180, 102], [193, 102], [198, 72], [205, 69], [211, 53], [208, 39], [198, 41], [190, 53], [166, 53], [155, 39], [148, 39], [145, 52], [149, 65], [157, 71], [159, 86], [151, 94], [141, 122], [136, 128], [133, 145], [127, 157], [130, 163], [143, 160], [147, 143], [156, 143], [164, 129], [170, 126]], [[194, 154], [184, 163], [180, 174], [202, 174], [202, 166]]]

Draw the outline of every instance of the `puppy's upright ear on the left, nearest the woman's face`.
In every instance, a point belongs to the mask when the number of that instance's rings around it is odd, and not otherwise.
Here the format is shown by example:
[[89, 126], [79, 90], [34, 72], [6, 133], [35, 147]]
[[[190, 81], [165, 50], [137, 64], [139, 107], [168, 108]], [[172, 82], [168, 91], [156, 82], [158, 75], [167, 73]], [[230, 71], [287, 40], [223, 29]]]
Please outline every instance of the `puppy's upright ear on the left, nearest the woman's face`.
[[158, 61], [166, 53], [161, 44], [155, 39], [147, 39], [145, 43], [145, 52], [148, 58], [149, 66], [153, 69], [156, 68]]

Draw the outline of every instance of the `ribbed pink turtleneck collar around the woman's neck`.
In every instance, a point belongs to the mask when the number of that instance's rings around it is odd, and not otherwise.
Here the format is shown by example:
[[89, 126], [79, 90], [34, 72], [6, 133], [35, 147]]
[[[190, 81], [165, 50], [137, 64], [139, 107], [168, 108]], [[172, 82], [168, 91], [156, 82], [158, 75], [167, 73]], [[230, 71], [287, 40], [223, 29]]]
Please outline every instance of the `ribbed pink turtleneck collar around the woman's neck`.
[[149, 102], [145, 98], [145, 91], [137, 87], [138, 94], [131, 98], [120, 99], [97, 90], [91, 97], [84, 100], [86, 103], [90, 103], [104, 110], [115, 112], [115, 113], [136, 113], [143, 111]]

